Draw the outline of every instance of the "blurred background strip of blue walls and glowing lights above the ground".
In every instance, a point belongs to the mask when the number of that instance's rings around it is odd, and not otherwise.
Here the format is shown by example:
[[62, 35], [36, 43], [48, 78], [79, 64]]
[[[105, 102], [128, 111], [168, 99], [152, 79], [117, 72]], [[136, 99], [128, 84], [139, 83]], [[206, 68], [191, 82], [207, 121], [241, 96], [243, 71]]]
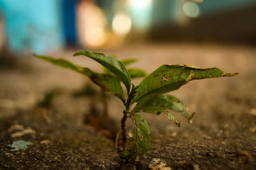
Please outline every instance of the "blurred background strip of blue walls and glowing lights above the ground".
[[255, 45], [256, 1], [0, 1], [1, 50], [45, 54], [138, 42]]

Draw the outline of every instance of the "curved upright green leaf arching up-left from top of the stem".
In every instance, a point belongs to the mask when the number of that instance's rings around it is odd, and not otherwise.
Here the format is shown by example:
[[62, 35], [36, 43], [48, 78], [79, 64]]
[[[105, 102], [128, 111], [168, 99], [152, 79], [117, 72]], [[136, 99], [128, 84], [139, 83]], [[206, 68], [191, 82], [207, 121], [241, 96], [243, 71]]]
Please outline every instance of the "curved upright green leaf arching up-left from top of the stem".
[[97, 62], [102, 66], [108, 68], [112, 73], [114, 73], [125, 85], [127, 92], [129, 93], [131, 89], [131, 77], [128, 71], [125, 69], [124, 64], [114, 57], [108, 57], [104, 53], [90, 52], [90, 51], [79, 51], [74, 53], [74, 56], [84, 55]]

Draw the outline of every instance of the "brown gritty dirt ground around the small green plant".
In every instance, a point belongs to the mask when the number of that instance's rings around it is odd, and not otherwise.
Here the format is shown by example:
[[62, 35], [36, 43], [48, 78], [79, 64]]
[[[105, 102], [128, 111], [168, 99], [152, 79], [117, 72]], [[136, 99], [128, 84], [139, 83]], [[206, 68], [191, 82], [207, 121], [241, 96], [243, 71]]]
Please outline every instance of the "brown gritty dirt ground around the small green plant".
[[[101, 71], [91, 59], [71, 57], [74, 51], [51, 55]], [[22, 69], [1, 69], [0, 169], [256, 169], [255, 47], [138, 44], [99, 51], [136, 58], [131, 67], [147, 73], [163, 64], [189, 64], [239, 74], [191, 81], [170, 93], [196, 112], [193, 124], [175, 113], [180, 127], [166, 115], [140, 113], [150, 127], [151, 148], [138, 162], [124, 164], [115, 148], [122, 102], [108, 94], [109, 117], [101, 129], [92, 117], [104, 110], [98, 87], [91, 84], [96, 95], [77, 97], [86, 77], [27, 56], [19, 62]], [[132, 81], [138, 85], [141, 79]], [[59, 93], [45, 104], [54, 90]], [[15, 142], [23, 148], [15, 149]]]

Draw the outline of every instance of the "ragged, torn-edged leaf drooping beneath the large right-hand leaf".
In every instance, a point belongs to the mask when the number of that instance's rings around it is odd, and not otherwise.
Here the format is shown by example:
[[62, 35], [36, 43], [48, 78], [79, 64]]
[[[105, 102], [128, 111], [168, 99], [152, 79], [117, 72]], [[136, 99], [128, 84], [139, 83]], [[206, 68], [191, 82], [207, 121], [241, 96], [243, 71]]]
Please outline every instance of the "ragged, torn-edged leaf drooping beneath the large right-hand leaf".
[[188, 107], [186, 107], [186, 105], [182, 103], [182, 101], [180, 101], [177, 97], [168, 94], [154, 96], [140, 101], [133, 109], [134, 112], [143, 111], [148, 113], [156, 113], [157, 115], [160, 113], [166, 113], [170, 120], [173, 120], [175, 124], [180, 125], [168, 110], [180, 113], [180, 115], [188, 118], [189, 123], [192, 123], [194, 113], [191, 113]]

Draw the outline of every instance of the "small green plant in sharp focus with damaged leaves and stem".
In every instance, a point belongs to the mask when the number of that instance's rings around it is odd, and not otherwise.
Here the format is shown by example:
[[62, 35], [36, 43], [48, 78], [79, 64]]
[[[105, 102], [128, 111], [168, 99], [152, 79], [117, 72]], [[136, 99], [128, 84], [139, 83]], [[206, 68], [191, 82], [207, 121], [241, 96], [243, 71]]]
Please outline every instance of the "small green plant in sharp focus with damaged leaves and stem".
[[[170, 113], [170, 111], [176, 111], [188, 118], [188, 122], [191, 123], [194, 113], [191, 113], [179, 99], [166, 93], [179, 89], [191, 80], [234, 76], [238, 74], [223, 73], [223, 71], [216, 67], [200, 68], [185, 64], [166, 64], [157, 68], [153, 73], [145, 77], [139, 85], [134, 87], [131, 83], [131, 75], [124, 64], [114, 57], [108, 57], [104, 53], [90, 51], [74, 53], [74, 56], [77, 55], [90, 57], [106, 67], [112, 74], [95, 73], [88, 67], [77, 66], [64, 59], [53, 59], [39, 55], [35, 55], [35, 57], [84, 74], [96, 85], [99, 85], [105, 91], [111, 92], [123, 102], [125, 109], [121, 120], [122, 152], [119, 155], [127, 160], [138, 160], [140, 155], [146, 153], [150, 148], [150, 131], [147, 122], [139, 115], [140, 112], [155, 113], [156, 115], [165, 113], [170, 120], [180, 125], [178, 120]], [[127, 91], [126, 97], [120, 81], [125, 85]], [[134, 103], [136, 103], [135, 106]], [[127, 118], [131, 118], [134, 122], [132, 135], [134, 137], [134, 143], [129, 147], [126, 146], [125, 122]]]

